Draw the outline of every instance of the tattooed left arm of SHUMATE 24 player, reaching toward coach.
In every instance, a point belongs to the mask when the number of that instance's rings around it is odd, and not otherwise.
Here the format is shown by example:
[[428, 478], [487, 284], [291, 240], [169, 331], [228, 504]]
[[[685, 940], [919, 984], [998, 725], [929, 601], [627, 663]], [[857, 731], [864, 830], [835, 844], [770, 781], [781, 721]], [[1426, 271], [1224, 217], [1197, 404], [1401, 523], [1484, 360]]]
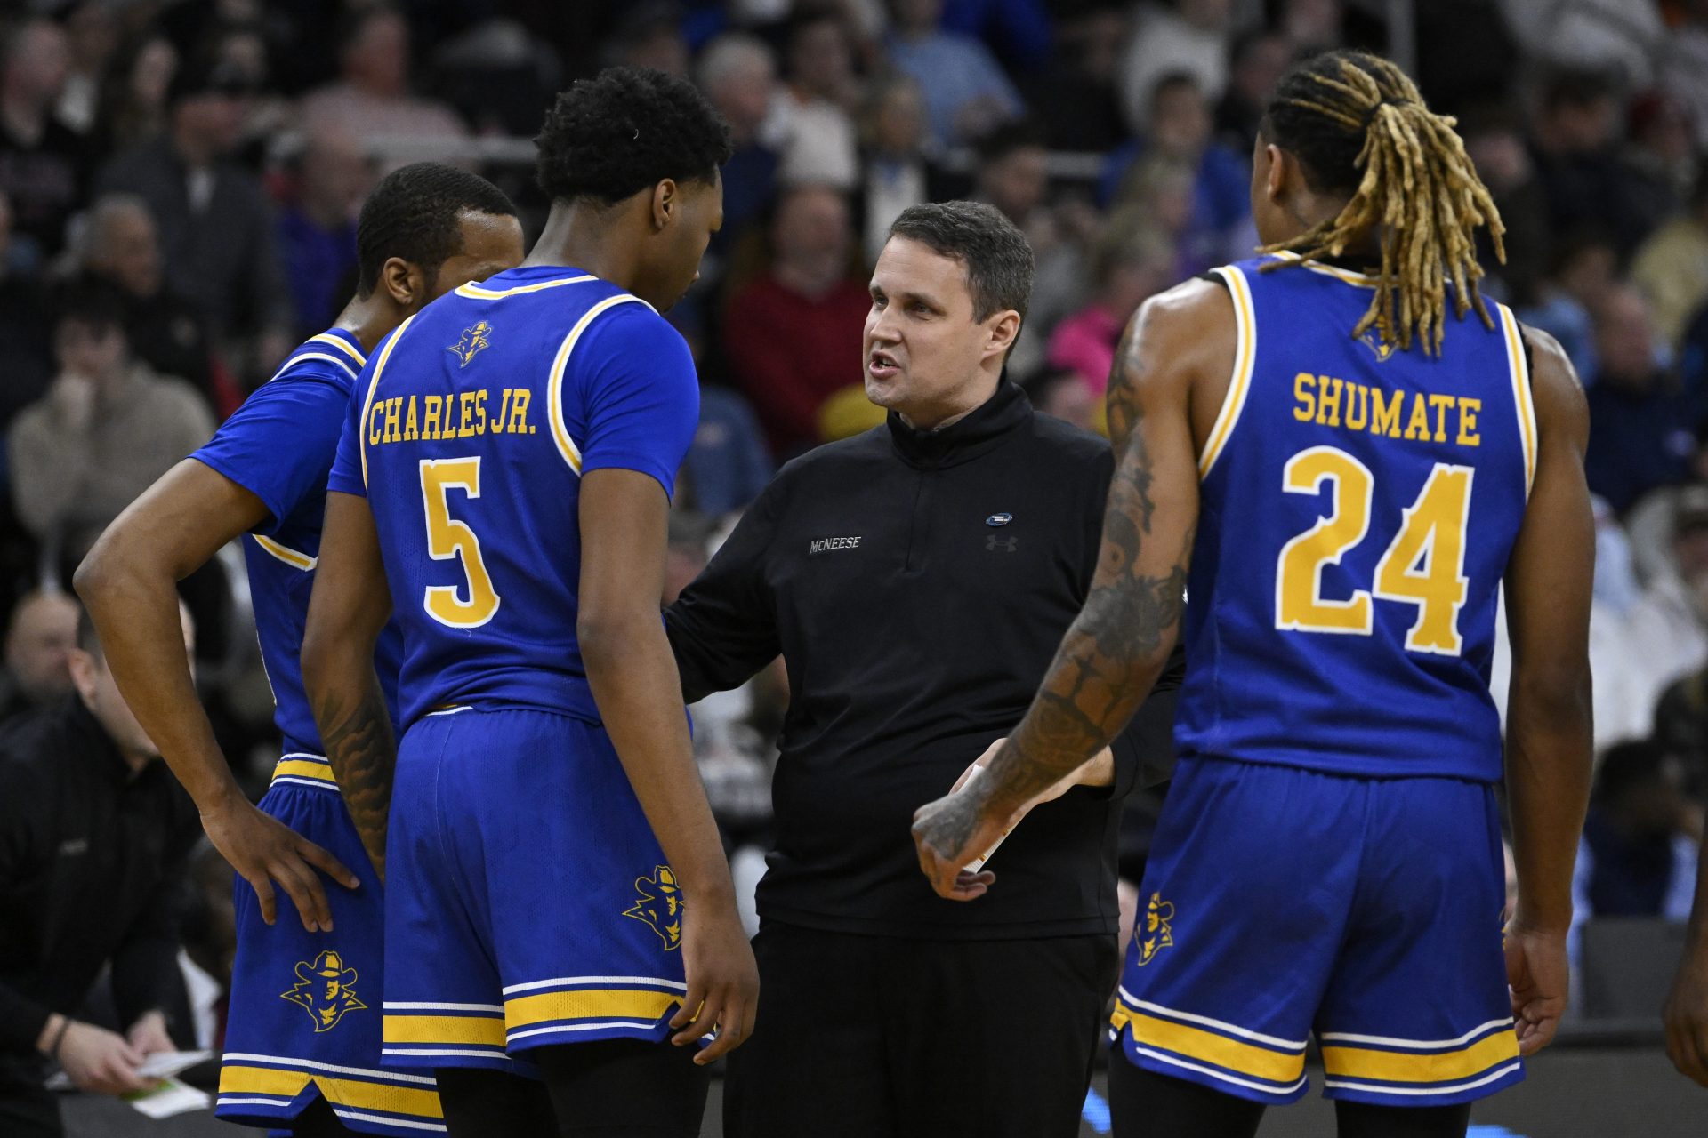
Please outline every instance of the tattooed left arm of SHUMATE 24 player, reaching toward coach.
[[1091, 590], [986, 778], [915, 816], [921, 867], [943, 896], [984, 892], [987, 875], [958, 879], [956, 867], [989, 848], [1032, 797], [1108, 746], [1168, 662], [1197, 525], [1192, 377], [1218, 355], [1199, 346], [1214, 340], [1214, 319], [1226, 319], [1231, 343], [1228, 302], [1206, 292], [1213, 288], [1196, 283], [1148, 302], [1117, 350], [1108, 386], [1117, 467]]

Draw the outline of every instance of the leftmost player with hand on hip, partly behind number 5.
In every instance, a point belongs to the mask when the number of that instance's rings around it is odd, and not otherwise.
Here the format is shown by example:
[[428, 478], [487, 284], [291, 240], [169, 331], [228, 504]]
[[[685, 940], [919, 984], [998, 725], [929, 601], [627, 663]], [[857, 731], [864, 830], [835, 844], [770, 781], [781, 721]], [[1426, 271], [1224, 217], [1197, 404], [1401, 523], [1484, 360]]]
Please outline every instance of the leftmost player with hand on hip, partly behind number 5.
[[[292, 351], [205, 447], [132, 503], [77, 573], [120, 689], [195, 797], [208, 838], [251, 885], [236, 896], [237, 959], [215, 1106], [224, 1119], [299, 1136], [418, 1135], [437, 1124], [430, 1078], [377, 1070], [384, 904], [323, 758], [297, 653], [326, 474], [362, 362], [434, 297], [521, 258], [516, 208], [485, 179], [430, 162], [388, 176], [362, 206], [357, 295], [333, 328]], [[232, 780], [196, 701], [174, 592], [244, 536], [285, 744], [260, 809]], [[391, 631], [374, 657], [388, 706], [398, 659]], [[328, 894], [316, 870], [348, 891]], [[275, 885], [289, 897], [277, 925]]]

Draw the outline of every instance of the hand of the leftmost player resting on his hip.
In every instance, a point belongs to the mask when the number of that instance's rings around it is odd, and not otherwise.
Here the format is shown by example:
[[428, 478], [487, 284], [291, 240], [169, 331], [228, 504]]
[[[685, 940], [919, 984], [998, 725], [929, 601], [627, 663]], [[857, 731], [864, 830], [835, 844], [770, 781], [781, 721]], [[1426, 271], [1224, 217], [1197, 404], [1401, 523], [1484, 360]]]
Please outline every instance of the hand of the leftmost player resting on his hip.
[[362, 882], [338, 858], [284, 822], [258, 810], [248, 798], [232, 797], [202, 814], [202, 827], [208, 841], [231, 862], [231, 867], [254, 889], [261, 903], [261, 920], [268, 925], [278, 914], [273, 882], [297, 906], [302, 928], [331, 932], [331, 906], [321, 887], [319, 870], [348, 889]]

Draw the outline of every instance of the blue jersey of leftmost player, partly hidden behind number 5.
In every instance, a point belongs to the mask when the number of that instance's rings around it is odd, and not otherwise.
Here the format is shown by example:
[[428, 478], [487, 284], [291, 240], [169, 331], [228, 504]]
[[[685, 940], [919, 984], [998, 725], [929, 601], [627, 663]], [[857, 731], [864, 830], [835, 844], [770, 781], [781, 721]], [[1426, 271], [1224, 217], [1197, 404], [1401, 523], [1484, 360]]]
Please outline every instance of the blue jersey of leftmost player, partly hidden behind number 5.
[[[261, 664], [273, 688], [273, 722], [287, 754], [321, 754], [302, 691], [302, 628], [319, 558], [326, 478], [364, 362], [360, 341], [342, 328], [311, 336], [191, 456], [266, 507], [268, 517], [248, 534], [243, 554]], [[401, 659], [403, 640], [386, 626], [374, 665], [393, 720]]]

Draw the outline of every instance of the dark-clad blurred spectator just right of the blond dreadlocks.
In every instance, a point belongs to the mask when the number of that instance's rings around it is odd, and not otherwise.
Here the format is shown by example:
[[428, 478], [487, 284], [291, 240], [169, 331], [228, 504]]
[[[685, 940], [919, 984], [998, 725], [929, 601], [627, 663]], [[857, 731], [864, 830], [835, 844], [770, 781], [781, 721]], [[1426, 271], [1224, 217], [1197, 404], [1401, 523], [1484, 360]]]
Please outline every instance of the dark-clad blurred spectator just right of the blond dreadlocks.
[[1660, 222], [1640, 176], [1619, 155], [1619, 97], [1606, 75], [1546, 77], [1530, 142], [1554, 232], [1606, 225], [1628, 254]]

